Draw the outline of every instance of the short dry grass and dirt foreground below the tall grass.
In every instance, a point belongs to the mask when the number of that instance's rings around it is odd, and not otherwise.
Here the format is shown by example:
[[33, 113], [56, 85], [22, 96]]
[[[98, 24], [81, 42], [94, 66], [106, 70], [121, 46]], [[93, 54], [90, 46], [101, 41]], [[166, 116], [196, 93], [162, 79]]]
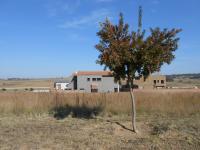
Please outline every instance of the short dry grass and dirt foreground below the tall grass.
[[200, 149], [200, 115], [67, 118], [0, 116], [0, 149]]

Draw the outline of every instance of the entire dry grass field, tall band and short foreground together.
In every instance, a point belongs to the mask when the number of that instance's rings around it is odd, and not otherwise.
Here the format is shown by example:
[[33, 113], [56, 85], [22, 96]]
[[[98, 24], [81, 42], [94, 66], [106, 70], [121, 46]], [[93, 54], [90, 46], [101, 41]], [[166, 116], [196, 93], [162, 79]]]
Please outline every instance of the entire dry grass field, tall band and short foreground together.
[[0, 92], [0, 149], [199, 149], [199, 90]]

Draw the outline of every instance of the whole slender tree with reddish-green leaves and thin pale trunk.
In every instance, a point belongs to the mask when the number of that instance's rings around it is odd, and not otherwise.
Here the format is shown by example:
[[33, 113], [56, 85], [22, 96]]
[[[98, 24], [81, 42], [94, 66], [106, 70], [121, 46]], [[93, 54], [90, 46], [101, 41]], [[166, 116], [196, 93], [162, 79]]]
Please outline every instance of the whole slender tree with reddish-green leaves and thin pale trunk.
[[99, 51], [97, 63], [113, 72], [115, 81], [126, 79], [129, 85], [132, 102], [132, 125], [136, 132], [136, 110], [133, 94], [134, 79], [144, 77], [160, 70], [165, 63], [170, 64], [175, 58], [174, 51], [178, 48], [180, 29], [150, 28], [149, 36], [145, 38], [142, 31], [142, 8], [139, 8], [139, 23], [137, 32], [129, 31], [129, 25], [124, 23], [120, 13], [119, 23], [113, 25], [108, 19], [100, 23], [97, 36], [99, 43], [95, 46]]

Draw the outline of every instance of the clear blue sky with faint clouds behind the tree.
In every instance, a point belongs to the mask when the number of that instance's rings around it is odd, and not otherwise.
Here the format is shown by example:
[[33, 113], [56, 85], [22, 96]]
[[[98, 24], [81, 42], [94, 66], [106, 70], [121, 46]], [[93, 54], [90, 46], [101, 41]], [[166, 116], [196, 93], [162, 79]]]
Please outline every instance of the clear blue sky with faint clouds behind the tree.
[[200, 73], [199, 0], [0, 0], [0, 78], [66, 77], [96, 64], [99, 22], [124, 14], [137, 30], [181, 28], [176, 59], [161, 74]]

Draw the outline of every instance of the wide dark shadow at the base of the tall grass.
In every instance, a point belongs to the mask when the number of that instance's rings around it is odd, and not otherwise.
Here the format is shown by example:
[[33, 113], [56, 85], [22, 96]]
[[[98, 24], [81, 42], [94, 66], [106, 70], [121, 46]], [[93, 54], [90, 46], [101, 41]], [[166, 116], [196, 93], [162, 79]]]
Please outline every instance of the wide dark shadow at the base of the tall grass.
[[71, 115], [74, 118], [92, 119], [103, 111], [100, 106], [88, 107], [88, 106], [59, 106], [52, 109], [54, 118], [64, 119]]

